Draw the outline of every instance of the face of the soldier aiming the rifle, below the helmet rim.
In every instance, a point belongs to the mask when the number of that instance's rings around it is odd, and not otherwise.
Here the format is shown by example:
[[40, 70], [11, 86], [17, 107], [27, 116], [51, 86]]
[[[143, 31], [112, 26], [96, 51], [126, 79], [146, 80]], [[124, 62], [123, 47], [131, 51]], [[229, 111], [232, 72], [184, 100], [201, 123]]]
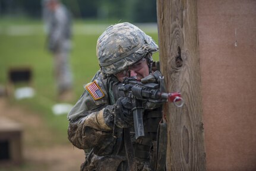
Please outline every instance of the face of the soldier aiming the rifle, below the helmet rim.
[[125, 69], [124, 71], [121, 71], [115, 74], [116, 78], [118, 78], [120, 82], [124, 81], [124, 77], [133, 77], [133, 76], [136, 76], [137, 81], [140, 81], [141, 78], [144, 78], [147, 75], [149, 75], [149, 68], [147, 65], [147, 60], [145, 58], [129, 66], [128, 69]]

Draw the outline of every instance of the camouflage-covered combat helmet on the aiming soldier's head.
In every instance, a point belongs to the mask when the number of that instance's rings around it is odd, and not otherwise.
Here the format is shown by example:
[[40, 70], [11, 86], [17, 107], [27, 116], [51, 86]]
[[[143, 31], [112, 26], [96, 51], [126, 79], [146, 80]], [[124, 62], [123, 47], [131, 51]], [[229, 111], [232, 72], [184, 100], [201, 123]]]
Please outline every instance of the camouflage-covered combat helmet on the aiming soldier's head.
[[158, 46], [144, 31], [131, 23], [109, 26], [97, 40], [97, 58], [103, 74], [116, 74], [141, 58], [157, 52]]

